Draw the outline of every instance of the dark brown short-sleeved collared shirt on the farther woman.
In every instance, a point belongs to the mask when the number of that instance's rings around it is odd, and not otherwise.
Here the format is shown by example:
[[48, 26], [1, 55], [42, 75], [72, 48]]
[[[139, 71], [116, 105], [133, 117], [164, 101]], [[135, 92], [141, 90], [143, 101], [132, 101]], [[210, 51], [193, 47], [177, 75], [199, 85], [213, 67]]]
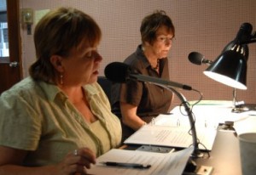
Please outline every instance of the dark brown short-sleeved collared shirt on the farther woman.
[[[154, 76], [169, 80], [168, 59], [160, 59], [160, 74], [151, 67], [139, 45], [135, 53], [124, 61], [132, 70], [145, 76]], [[137, 116], [157, 116], [168, 112], [172, 102], [172, 92], [157, 85], [128, 81], [122, 84], [114, 83], [112, 86], [113, 113], [120, 116], [119, 102], [137, 106]]]

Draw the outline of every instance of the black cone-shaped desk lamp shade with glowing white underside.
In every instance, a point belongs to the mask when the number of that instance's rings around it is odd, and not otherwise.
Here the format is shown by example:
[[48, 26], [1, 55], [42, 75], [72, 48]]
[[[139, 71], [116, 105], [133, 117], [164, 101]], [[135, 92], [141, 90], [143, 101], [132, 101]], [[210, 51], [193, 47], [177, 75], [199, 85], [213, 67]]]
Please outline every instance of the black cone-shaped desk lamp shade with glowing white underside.
[[220, 54], [204, 74], [232, 88], [247, 89], [247, 59], [234, 50]]

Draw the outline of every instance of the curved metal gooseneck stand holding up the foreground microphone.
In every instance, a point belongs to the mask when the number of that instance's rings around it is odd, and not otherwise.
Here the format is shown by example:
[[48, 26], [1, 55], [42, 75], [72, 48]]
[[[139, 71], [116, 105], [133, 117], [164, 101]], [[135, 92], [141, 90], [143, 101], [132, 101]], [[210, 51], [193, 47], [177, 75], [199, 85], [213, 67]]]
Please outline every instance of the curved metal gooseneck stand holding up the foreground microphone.
[[173, 93], [175, 93], [177, 95], [177, 98], [180, 99], [181, 103], [183, 104], [183, 107], [185, 108], [185, 110], [189, 116], [189, 123], [190, 123], [190, 127], [191, 127], [193, 146], [194, 146], [192, 157], [195, 157], [195, 158], [202, 157], [203, 153], [201, 153], [201, 151], [199, 150], [199, 147], [198, 147], [199, 143], [198, 143], [198, 139], [196, 136], [195, 120], [194, 120], [194, 117], [192, 116], [192, 112], [189, 108], [189, 104], [188, 104], [187, 100], [185, 99], [185, 97], [183, 96], [183, 94], [177, 92], [177, 90], [175, 88], [172, 88], [170, 86], [164, 86], [164, 85], [161, 85], [161, 84], [155, 83], [155, 82], [149, 82], [149, 83], [152, 83], [154, 85], [157, 85], [157, 86], [160, 86], [162, 88], [166, 88], [166, 89], [172, 91]]

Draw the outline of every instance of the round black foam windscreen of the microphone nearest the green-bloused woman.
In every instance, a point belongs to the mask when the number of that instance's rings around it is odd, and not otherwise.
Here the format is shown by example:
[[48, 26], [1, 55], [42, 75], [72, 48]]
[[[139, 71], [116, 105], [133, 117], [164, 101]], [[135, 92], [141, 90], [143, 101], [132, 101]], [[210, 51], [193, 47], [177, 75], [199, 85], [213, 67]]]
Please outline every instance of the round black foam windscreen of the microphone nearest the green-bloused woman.
[[126, 78], [129, 76], [129, 65], [113, 62], [105, 67], [104, 73], [111, 82], [126, 82]]

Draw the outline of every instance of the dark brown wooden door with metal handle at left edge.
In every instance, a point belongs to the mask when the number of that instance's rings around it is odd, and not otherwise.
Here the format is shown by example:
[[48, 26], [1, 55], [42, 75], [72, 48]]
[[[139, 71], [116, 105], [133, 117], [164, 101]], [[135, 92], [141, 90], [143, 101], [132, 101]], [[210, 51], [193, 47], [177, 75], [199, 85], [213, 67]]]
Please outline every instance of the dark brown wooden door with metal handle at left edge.
[[6, 4], [9, 57], [0, 58], [0, 93], [19, 82], [22, 77], [19, 0], [6, 0]]

